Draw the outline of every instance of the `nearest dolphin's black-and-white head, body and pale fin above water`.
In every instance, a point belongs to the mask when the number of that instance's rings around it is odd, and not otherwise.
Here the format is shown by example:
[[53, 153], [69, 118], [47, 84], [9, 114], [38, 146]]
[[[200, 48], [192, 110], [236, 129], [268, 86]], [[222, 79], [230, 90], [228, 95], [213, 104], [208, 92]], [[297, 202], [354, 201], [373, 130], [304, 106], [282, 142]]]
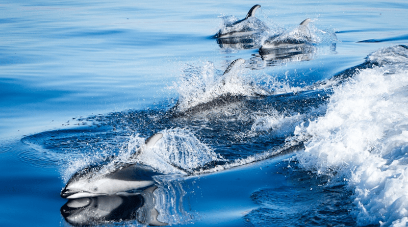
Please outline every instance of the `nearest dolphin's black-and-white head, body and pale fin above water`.
[[[162, 137], [161, 133], [151, 136], [146, 140], [145, 148], [154, 146]], [[117, 163], [114, 164], [114, 170], [108, 170], [106, 173], [101, 171], [101, 166], [88, 166], [73, 174], [61, 191], [61, 197], [71, 199], [115, 195], [119, 192], [143, 189], [154, 185], [152, 177], [161, 174], [139, 163]]]

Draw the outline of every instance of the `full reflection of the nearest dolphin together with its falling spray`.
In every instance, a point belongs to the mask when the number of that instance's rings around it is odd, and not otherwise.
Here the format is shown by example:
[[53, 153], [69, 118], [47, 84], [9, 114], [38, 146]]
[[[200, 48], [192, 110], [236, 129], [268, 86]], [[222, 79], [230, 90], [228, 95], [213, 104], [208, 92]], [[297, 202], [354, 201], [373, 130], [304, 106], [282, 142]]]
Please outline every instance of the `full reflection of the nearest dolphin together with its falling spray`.
[[152, 226], [185, 224], [196, 219], [191, 207], [195, 184], [194, 178], [162, 175], [146, 189], [68, 199], [60, 211], [75, 226], [123, 221]]

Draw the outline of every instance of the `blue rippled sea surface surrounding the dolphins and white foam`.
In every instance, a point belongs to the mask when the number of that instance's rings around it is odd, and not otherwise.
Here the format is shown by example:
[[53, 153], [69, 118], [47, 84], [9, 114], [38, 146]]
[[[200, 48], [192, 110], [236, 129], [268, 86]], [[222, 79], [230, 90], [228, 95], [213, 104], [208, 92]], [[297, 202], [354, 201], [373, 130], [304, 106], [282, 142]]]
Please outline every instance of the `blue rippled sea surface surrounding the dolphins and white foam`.
[[[181, 86], [193, 83], [188, 75], [220, 75], [233, 60], [258, 54], [211, 38], [223, 17], [243, 18], [255, 4], [272, 31], [311, 18], [322, 39], [313, 59], [240, 71], [253, 83], [274, 78], [287, 92], [169, 114], [189, 97]], [[176, 198], [162, 219], [171, 225], [379, 226], [392, 218], [359, 221], [347, 181], [299, 167], [295, 151], [272, 153], [302, 122], [325, 115], [331, 91], [295, 87], [360, 65], [382, 47], [408, 44], [405, 1], [5, 1], [0, 9], [1, 226], [70, 226], [60, 212], [67, 176], [120, 155], [133, 136], [183, 130], [223, 160], [163, 180], [163, 191], [174, 189], [164, 194]], [[268, 117], [275, 115], [293, 120], [274, 128]]]

